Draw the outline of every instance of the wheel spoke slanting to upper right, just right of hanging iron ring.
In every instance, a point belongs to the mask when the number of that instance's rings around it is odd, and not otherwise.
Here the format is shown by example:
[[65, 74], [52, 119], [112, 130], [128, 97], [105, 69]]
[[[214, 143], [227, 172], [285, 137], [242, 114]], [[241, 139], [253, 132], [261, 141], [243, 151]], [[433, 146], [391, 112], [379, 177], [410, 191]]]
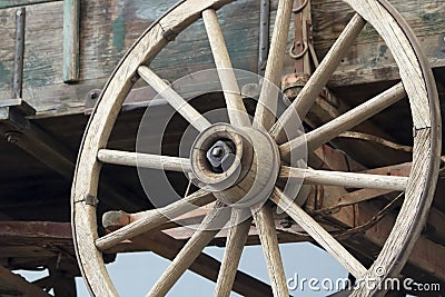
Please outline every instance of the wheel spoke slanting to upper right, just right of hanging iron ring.
[[277, 142], [281, 143], [284, 141], [285, 136], [283, 129], [286, 123], [295, 117], [295, 111], [300, 119], [306, 117], [306, 113], [309, 111], [315, 99], [322, 92], [330, 76], [334, 73], [346, 52], [350, 49], [365, 24], [366, 21], [360, 16], [355, 14], [346, 26], [345, 30], [335, 41], [326, 57], [315, 70], [314, 75], [309, 78], [306, 86], [298, 93], [295, 101], [285, 110], [270, 130], [270, 135], [277, 140]]

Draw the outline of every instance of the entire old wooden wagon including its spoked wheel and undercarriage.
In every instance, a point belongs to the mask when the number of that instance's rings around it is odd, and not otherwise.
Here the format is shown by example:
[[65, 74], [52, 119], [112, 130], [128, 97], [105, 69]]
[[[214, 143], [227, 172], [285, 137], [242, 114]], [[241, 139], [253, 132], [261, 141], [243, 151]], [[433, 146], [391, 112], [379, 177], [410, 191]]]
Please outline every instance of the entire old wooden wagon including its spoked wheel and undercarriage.
[[[111, 2], [71, 11], [79, 50], [43, 33], [61, 32], [62, 1], [29, 1], [22, 56], [17, 7], [0, 4], [13, 37], [0, 51], [0, 296], [76, 296], [80, 275], [116, 296], [105, 264], [134, 251], [172, 260], [150, 296], [186, 269], [216, 296], [287, 296], [278, 246], [303, 241], [357, 279], [445, 283], [443, 3], [389, 1], [417, 44], [386, 1], [167, 1], [157, 21], [147, 3]], [[61, 65], [62, 43], [79, 60]], [[237, 270], [245, 245], [261, 245], [270, 285]], [[34, 284], [10, 273], [41, 268]]]

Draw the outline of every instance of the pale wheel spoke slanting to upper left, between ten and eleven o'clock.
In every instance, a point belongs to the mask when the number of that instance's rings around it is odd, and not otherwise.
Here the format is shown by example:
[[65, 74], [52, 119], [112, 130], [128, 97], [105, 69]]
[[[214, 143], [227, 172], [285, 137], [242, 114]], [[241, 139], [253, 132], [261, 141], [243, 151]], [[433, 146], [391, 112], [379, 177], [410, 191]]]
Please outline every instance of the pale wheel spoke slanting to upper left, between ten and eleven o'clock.
[[151, 69], [146, 66], [140, 66], [138, 68], [138, 73], [198, 131], [202, 131], [210, 127], [210, 122], [201, 113], [199, 113], [192, 106], [190, 106], [174, 89], [171, 89], [170, 86], [168, 86], [160, 77], [151, 71]]

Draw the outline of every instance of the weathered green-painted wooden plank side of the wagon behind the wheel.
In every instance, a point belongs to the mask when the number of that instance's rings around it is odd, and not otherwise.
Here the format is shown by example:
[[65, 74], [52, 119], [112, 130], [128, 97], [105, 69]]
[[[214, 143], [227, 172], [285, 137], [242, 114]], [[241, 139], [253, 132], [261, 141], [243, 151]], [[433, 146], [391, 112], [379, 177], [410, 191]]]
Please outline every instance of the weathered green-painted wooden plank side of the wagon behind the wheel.
[[[12, 1], [9, 1], [12, 2]], [[85, 97], [100, 89], [132, 42], [177, 0], [81, 1], [79, 83], [63, 82], [63, 1], [27, 7], [23, 99], [38, 115], [82, 112]], [[271, 26], [278, 0], [273, 0]], [[390, 0], [402, 11], [435, 67], [445, 67], [445, 0]], [[312, 0], [315, 47], [323, 58], [343, 30], [352, 11], [340, 0]], [[13, 67], [14, 8], [0, 9], [0, 100], [10, 99]], [[257, 71], [259, 2], [239, 0], [219, 12], [235, 67]], [[289, 41], [291, 40], [289, 34]], [[293, 71], [286, 57], [285, 69]], [[162, 78], [174, 81], [212, 68], [214, 61], [201, 21], [191, 24], [152, 61]], [[334, 86], [396, 79], [397, 69], [385, 44], [366, 28], [332, 80]]]

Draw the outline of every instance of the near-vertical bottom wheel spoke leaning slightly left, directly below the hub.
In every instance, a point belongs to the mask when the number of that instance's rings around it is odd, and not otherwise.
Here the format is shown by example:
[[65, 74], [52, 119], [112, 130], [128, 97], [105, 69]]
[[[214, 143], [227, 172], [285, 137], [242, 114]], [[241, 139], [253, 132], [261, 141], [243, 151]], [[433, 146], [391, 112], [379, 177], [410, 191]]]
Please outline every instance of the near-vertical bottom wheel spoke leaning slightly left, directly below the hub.
[[218, 280], [215, 288], [215, 297], [228, 297], [235, 281], [239, 259], [241, 258], [243, 249], [249, 235], [251, 218], [240, 222], [240, 219], [246, 218], [245, 210], [234, 208], [231, 210], [230, 224], [233, 227], [227, 236], [226, 251], [221, 268], [219, 269]]

